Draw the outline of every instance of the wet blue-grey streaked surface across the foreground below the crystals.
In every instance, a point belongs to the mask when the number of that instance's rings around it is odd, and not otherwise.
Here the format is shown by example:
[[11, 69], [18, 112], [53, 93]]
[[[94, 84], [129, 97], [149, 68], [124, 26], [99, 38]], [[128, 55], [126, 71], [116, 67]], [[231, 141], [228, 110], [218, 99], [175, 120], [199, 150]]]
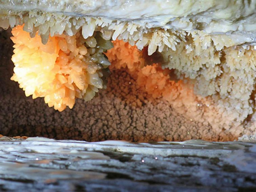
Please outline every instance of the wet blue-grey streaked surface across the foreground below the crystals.
[[1, 137], [1, 191], [253, 191], [256, 144]]

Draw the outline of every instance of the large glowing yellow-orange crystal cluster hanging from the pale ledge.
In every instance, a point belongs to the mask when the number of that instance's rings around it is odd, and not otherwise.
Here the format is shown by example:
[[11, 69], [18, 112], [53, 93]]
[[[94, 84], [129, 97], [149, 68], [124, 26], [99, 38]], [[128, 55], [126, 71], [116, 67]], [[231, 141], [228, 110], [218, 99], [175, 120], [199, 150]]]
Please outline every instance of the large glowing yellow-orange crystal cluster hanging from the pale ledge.
[[90, 54], [79, 42], [79, 33], [49, 36], [44, 45], [38, 34], [31, 38], [22, 27], [12, 30], [15, 67], [11, 79], [20, 84], [27, 97], [44, 97], [49, 107], [63, 111], [66, 106], [73, 107], [76, 97], [89, 100], [103, 88], [102, 74], [88, 59]]

